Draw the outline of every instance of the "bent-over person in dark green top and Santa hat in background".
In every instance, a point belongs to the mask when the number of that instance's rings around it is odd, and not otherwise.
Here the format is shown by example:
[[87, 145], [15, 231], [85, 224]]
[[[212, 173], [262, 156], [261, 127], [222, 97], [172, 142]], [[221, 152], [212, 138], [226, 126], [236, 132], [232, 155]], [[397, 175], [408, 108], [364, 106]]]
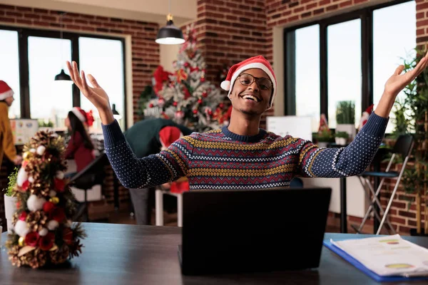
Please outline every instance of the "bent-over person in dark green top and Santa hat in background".
[[[191, 133], [191, 130], [174, 123], [173, 120], [156, 118], [137, 122], [126, 130], [124, 135], [136, 157], [141, 158], [165, 150], [175, 140]], [[137, 224], [150, 224], [151, 207], [148, 201], [151, 192], [151, 187], [129, 189]]]

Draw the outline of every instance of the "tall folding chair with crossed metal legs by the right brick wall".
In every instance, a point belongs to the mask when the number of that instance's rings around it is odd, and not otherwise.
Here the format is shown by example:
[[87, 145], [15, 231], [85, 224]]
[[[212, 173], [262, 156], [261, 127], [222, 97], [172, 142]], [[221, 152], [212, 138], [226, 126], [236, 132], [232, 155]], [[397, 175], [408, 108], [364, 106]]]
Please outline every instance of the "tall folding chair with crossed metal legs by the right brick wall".
[[[362, 187], [364, 187], [364, 189], [366, 190], [366, 195], [369, 200], [370, 200], [370, 193], [372, 195], [372, 201], [370, 202], [370, 207], [367, 209], [367, 212], [365, 214], [365, 217], [362, 219], [362, 223], [360, 224], [360, 227], [358, 229], [354, 227], [357, 233], [360, 234], [362, 227], [364, 226], [371, 212], [374, 213], [374, 219], [377, 219], [380, 222], [379, 229], [377, 229], [376, 234], [380, 233], [382, 226], [384, 225], [384, 222], [387, 222], [389, 229], [391, 229], [394, 234], [396, 233], [394, 227], [392, 227], [392, 224], [387, 219], [387, 214], [389, 212], [389, 208], [391, 207], [392, 201], [394, 200], [395, 192], [397, 192], [399, 182], [402, 178], [404, 169], [406, 168], [406, 165], [407, 165], [407, 161], [409, 160], [409, 157], [412, 154], [413, 146], [414, 146], [414, 139], [412, 135], [400, 135], [399, 138], [397, 139], [397, 142], [395, 142], [394, 148], [392, 149], [392, 156], [391, 156], [391, 159], [389, 160], [389, 163], [385, 172], [367, 171], [357, 176], [360, 179]], [[399, 172], [390, 171], [392, 162], [394, 162], [394, 158], [396, 155], [400, 155], [403, 158], [403, 164]], [[376, 192], [374, 192], [373, 186], [370, 183], [370, 180], [369, 180], [370, 177], [379, 177], [379, 178], [382, 177], [382, 180], [380, 181], [379, 187], [377, 187]], [[382, 185], [384, 183], [385, 178], [397, 178], [397, 180], [395, 182], [392, 195], [391, 197], [389, 197], [387, 209], [383, 210], [382, 205], [380, 204], [380, 201], [377, 198], [377, 195], [379, 195], [379, 192], [382, 189]], [[370, 192], [367, 191], [367, 187], [369, 188]], [[381, 221], [381, 217], [379, 216], [379, 213], [374, 211], [374, 203], [376, 203], [377, 207], [379, 207], [379, 212], [383, 216], [382, 221]]]

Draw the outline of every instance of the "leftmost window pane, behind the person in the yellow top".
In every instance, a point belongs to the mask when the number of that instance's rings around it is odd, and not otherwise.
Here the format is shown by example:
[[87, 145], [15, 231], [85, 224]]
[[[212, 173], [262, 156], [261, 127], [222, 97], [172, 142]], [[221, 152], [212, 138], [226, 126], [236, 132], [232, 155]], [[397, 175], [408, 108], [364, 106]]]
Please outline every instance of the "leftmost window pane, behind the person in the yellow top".
[[15, 93], [15, 101], [9, 108], [9, 118], [20, 118], [18, 32], [0, 30], [0, 43], [0, 80], [6, 82]]

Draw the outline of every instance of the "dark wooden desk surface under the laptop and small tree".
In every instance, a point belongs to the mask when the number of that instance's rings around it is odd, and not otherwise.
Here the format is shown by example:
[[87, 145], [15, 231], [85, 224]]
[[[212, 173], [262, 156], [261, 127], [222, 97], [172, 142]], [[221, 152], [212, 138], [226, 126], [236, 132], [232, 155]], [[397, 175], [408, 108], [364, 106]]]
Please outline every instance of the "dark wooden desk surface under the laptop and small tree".
[[[88, 238], [81, 257], [62, 269], [29, 269], [11, 266], [1, 237], [0, 280], [9, 284], [377, 284], [354, 266], [323, 247], [320, 268], [218, 276], [182, 276], [177, 257], [180, 229], [125, 224], [84, 224]], [[325, 234], [325, 239], [367, 237]], [[404, 237], [428, 247], [426, 237]], [[386, 284], [386, 283], [382, 283]], [[411, 281], [394, 284], [427, 284]]]

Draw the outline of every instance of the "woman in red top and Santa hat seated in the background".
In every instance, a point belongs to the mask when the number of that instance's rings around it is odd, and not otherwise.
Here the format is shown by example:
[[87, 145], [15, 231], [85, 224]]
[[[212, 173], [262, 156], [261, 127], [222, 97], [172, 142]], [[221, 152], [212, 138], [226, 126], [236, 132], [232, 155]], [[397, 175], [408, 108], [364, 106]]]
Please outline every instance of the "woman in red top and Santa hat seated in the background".
[[[94, 147], [88, 135], [88, 127], [93, 124], [92, 113], [86, 113], [78, 107], [74, 107], [68, 112], [66, 127], [71, 133], [64, 157], [76, 161], [76, 171], [83, 170], [92, 160], [95, 159]], [[76, 173], [68, 173], [67, 177], [72, 177]]]

